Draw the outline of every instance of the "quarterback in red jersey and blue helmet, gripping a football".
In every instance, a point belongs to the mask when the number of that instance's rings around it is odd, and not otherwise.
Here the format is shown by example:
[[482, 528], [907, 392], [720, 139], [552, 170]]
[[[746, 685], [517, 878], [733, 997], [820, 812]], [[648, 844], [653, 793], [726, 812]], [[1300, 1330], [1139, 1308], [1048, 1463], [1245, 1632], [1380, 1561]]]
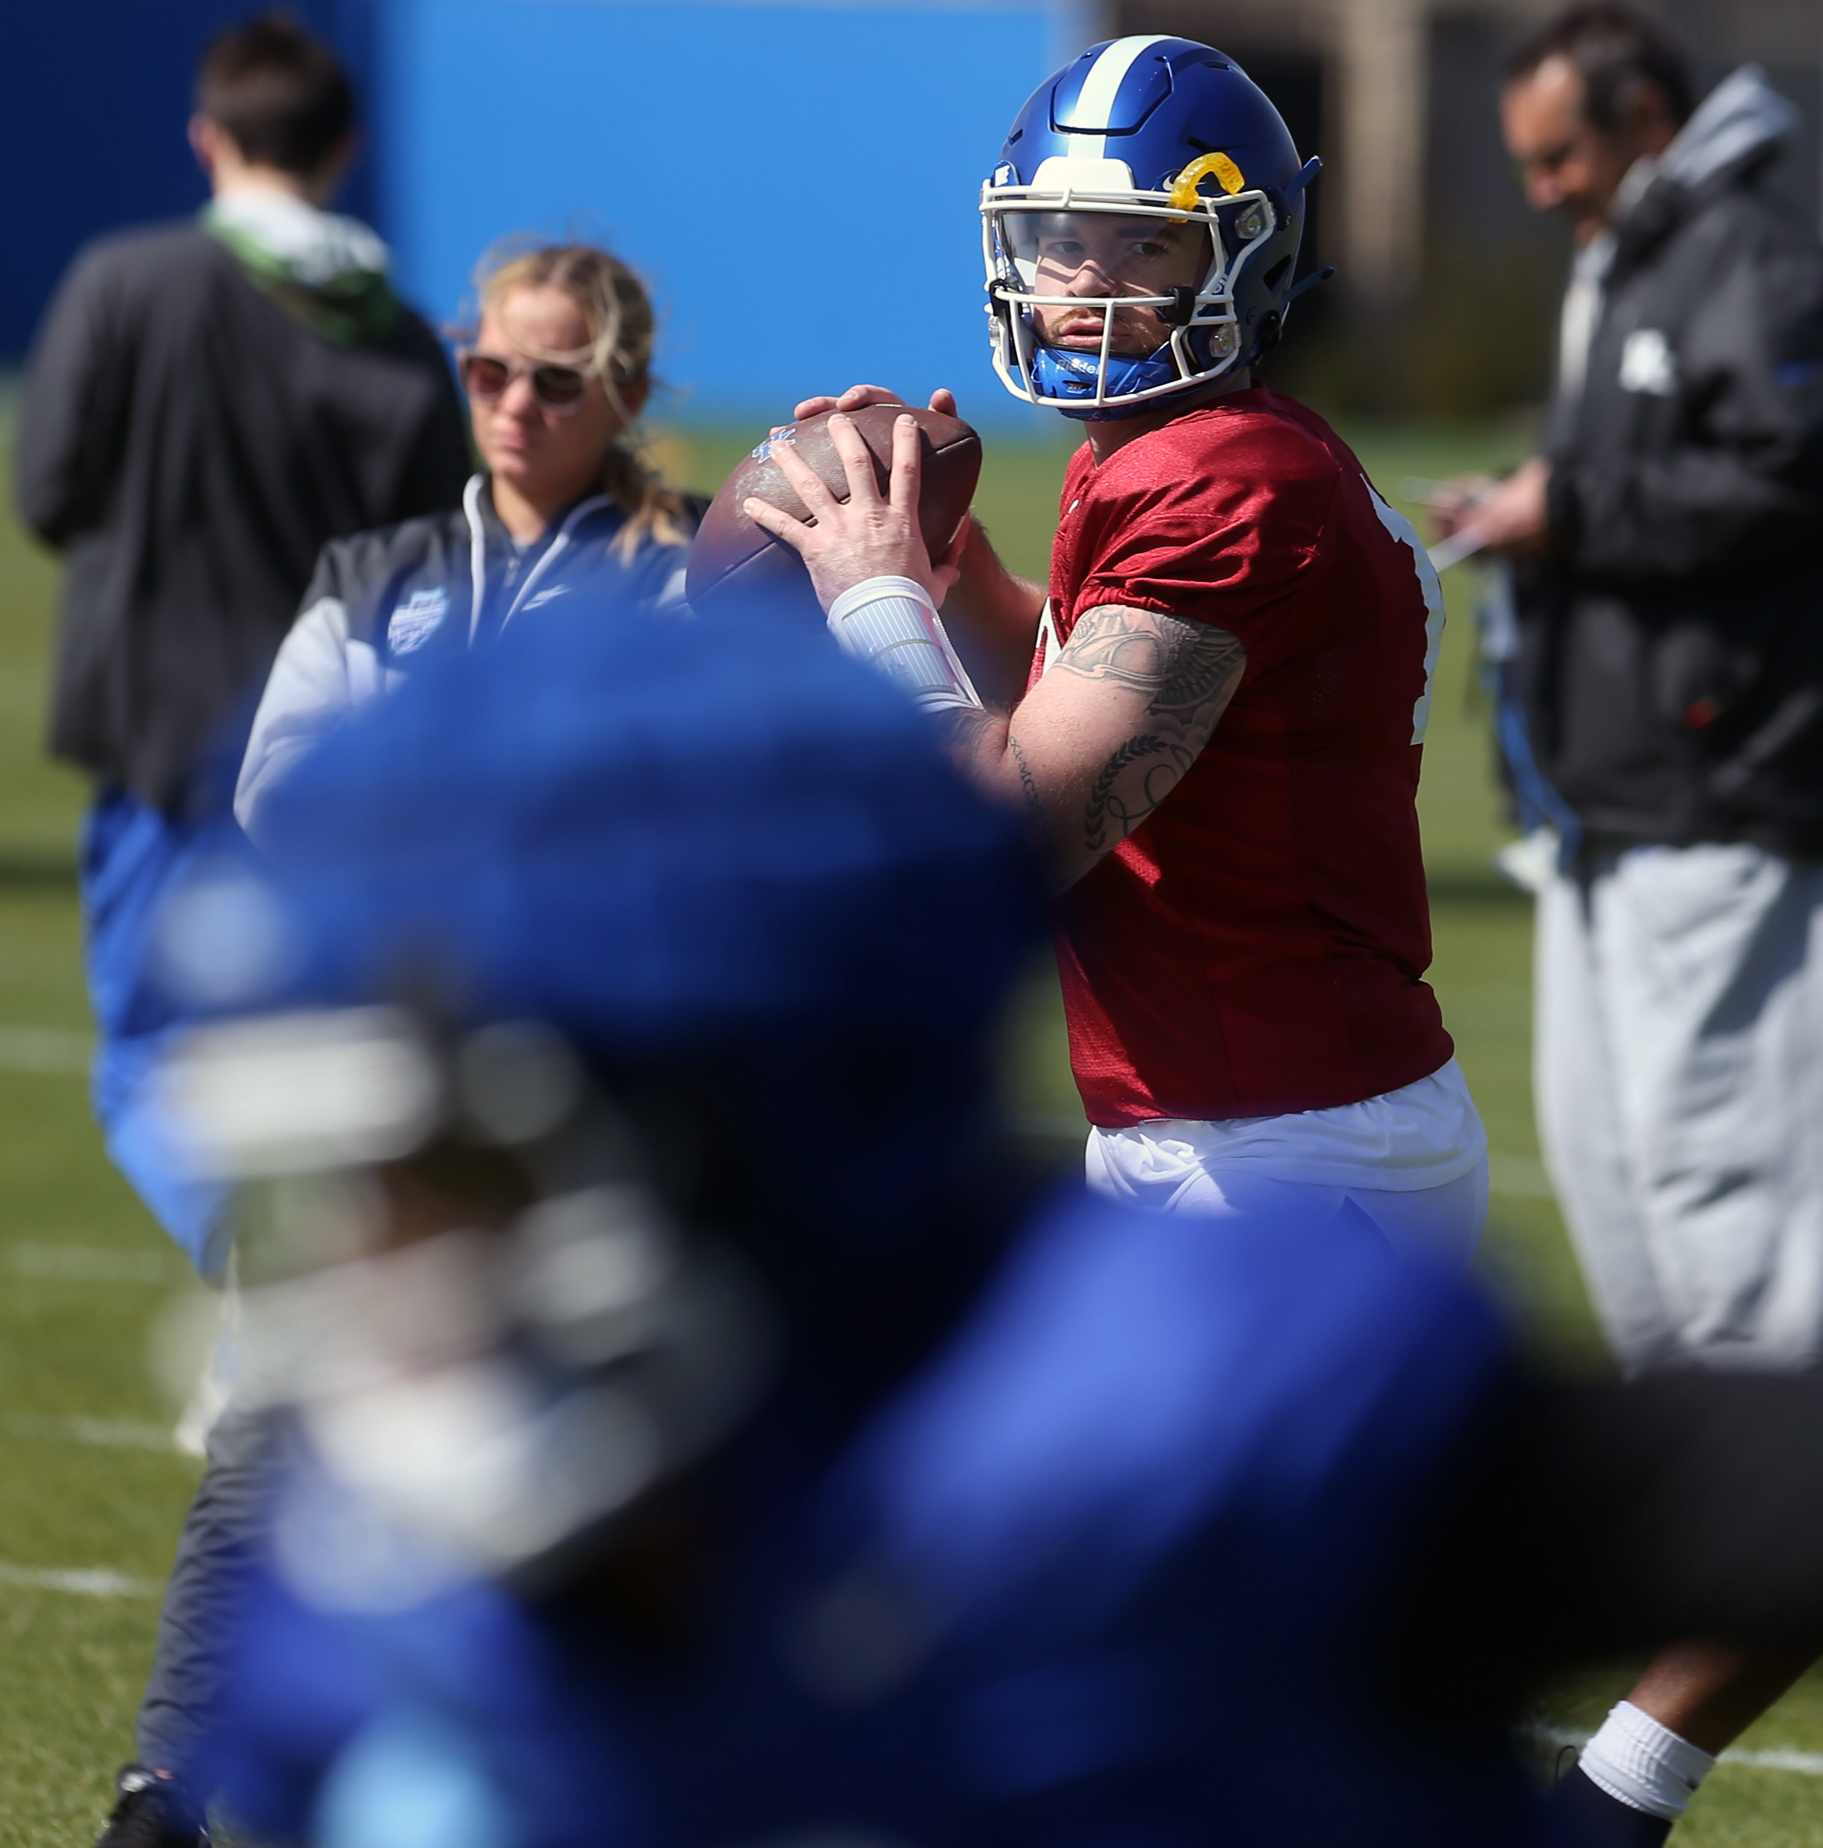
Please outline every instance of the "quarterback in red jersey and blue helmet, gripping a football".
[[[1028, 808], [1091, 1183], [1222, 1214], [1298, 1186], [1466, 1257], [1487, 1138], [1424, 981], [1414, 809], [1437, 577], [1335, 432], [1252, 371], [1298, 292], [1315, 172], [1187, 39], [1093, 46], [1021, 111], [982, 190], [995, 368], [1087, 434], [1048, 602], [978, 525], [934, 564], [915, 479], [882, 505], [852, 429], [847, 503], [786, 442], [815, 523], [747, 512], [802, 554], [845, 645], [941, 713], [969, 776]], [[998, 684], [985, 710], [945, 591]]]

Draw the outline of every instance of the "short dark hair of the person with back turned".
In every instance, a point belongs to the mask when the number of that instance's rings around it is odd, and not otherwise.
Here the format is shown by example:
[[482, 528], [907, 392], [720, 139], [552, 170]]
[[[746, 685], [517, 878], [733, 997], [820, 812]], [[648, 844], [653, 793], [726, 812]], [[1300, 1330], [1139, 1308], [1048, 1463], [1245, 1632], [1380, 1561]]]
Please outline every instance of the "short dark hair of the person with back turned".
[[288, 13], [261, 13], [209, 41], [196, 109], [255, 166], [311, 176], [348, 140], [355, 91], [327, 44]]

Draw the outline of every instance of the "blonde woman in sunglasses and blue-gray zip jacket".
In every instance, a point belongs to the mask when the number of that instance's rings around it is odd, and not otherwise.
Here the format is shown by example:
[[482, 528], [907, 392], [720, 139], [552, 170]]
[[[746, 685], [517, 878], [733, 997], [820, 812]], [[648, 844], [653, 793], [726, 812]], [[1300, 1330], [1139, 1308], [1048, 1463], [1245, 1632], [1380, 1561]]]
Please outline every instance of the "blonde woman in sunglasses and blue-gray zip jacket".
[[255, 839], [266, 795], [316, 739], [433, 652], [582, 588], [655, 610], [682, 599], [703, 503], [662, 488], [630, 444], [651, 392], [640, 279], [605, 249], [549, 244], [484, 259], [477, 296], [459, 366], [483, 471], [460, 510], [324, 549], [235, 789]]

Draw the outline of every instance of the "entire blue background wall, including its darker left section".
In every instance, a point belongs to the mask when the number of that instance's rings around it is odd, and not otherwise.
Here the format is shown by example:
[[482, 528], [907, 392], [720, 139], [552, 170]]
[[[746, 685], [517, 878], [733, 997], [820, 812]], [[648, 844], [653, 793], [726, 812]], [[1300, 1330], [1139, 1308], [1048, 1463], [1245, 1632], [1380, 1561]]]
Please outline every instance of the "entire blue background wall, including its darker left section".
[[[194, 211], [194, 61], [250, 0], [65, 0], [9, 26], [17, 177], [0, 355], [74, 249]], [[775, 414], [808, 390], [987, 370], [974, 213], [1006, 124], [1093, 37], [1087, 0], [290, 0], [364, 96], [344, 207], [438, 322], [512, 233], [608, 240], [655, 285], [667, 414]], [[18, 79], [24, 81], [18, 81]]]

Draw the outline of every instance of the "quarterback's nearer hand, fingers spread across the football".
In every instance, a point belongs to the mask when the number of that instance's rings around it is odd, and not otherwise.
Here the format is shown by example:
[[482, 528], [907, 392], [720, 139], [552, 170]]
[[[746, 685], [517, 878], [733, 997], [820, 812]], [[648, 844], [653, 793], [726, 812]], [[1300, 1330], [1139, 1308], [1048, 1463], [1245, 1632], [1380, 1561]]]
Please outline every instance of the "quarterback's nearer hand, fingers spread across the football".
[[882, 497], [873, 455], [847, 418], [830, 419], [830, 442], [841, 456], [849, 499], [838, 501], [817, 471], [788, 444], [773, 451], [786, 480], [797, 490], [810, 519], [797, 519], [769, 501], [749, 499], [743, 512], [804, 560], [817, 601], [826, 610], [845, 590], [875, 577], [915, 578], [941, 604], [956, 571], [969, 525], [963, 523], [948, 554], [932, 562], [917, 523], [919, 429], [913, 418], [893, 419], [893, 468]]

